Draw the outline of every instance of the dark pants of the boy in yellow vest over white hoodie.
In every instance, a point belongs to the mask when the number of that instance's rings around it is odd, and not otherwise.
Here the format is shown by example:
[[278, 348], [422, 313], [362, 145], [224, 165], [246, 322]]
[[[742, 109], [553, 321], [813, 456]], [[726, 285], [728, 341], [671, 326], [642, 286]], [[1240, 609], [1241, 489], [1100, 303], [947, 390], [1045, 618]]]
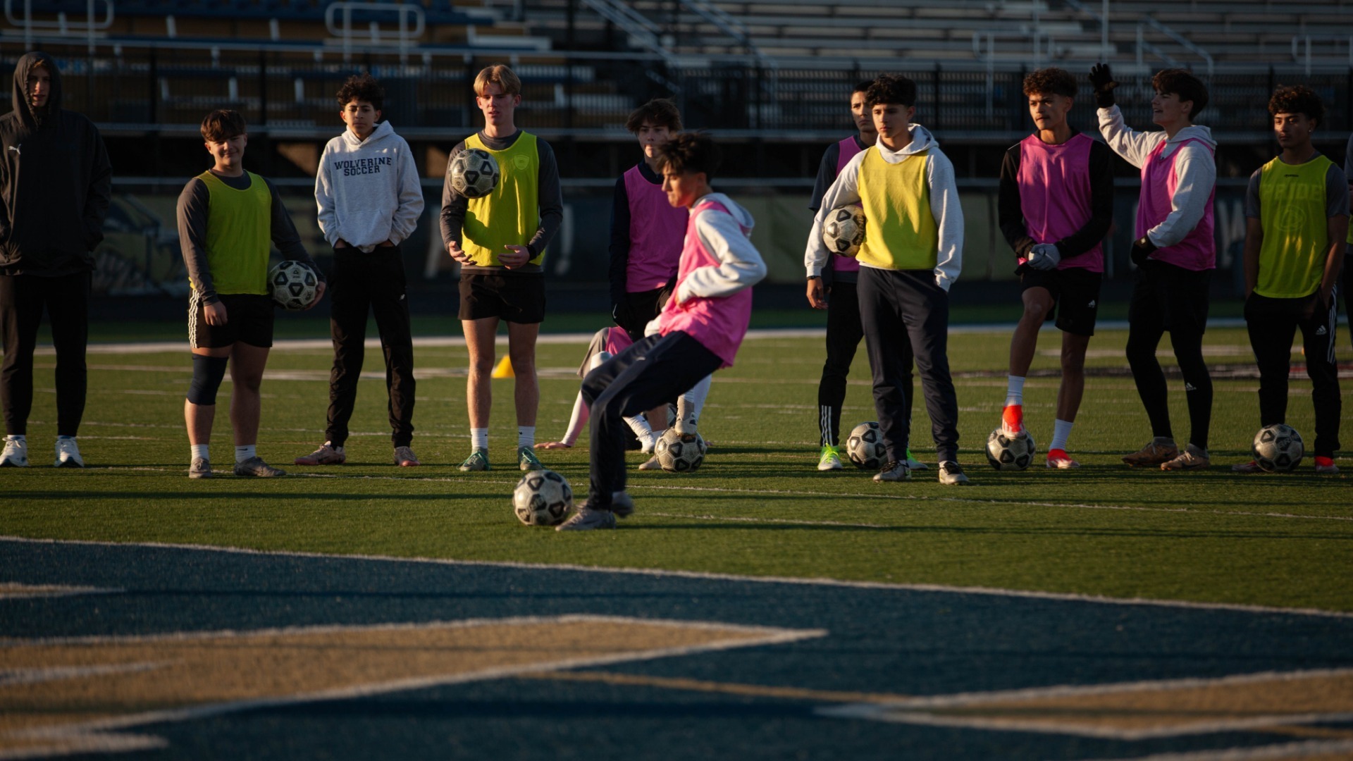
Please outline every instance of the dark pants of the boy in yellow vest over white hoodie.
[[939, 462], [958, 459], [958, 397], [948, 374], [948, 292], [930, 269], [859, 268], [859, 317], [888, 459], [907, 462], [911, 366], [921, 376]]

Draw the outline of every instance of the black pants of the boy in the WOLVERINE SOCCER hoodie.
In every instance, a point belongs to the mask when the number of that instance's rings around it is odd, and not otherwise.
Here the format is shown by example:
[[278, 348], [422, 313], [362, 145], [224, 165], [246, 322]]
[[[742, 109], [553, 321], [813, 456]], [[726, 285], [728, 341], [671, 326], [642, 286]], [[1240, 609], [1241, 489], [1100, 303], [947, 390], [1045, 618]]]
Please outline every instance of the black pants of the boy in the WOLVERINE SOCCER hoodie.
[[414, 437], [414, 344], [405, 295], [405, 263], [399, 246], [363, 253], [336, 249], [329, 275], [329, 336], [334, 366], [329, 374], [329, 425], [334, 447], [348, 440], [348, 421], [357, 401], [357, 379], [365, 356], [367, 313], [376, 316], [380, 351], [386, 357], [386, 394], [391, 439], [407, 447]]

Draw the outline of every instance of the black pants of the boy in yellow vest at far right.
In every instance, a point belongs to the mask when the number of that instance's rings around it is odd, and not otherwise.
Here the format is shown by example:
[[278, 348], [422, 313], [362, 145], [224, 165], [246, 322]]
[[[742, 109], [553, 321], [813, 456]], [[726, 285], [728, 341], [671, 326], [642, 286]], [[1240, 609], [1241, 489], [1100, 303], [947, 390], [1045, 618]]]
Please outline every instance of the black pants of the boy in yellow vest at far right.
[[1250, 332], [1250, 347], [1260, 367], [1260, 425], [1287, 422], [1287, 378], [1292, 367], [1292, 337], [1302, 330], [1306, 348], [1306, 375], [1311, 379], [1311, 402], [1315, 404], [1316, 456], [1331, 458], [1339, 448], [1339, 372], [1334, 363], [1334, 326], [1338, 324], [1338, 303], [1311, 317], [1302, 318], [1311, 297], [1276, 299], [1250, 294], [1245, 301], [1245, 326]]

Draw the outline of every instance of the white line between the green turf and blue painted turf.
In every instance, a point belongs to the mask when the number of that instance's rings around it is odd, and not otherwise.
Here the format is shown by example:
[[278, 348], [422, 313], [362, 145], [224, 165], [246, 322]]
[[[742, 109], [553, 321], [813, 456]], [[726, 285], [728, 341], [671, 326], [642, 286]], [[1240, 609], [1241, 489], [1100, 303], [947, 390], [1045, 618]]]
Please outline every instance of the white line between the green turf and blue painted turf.
[[96, 542], [89, 539], [32, 539], [28, 536], [4, 536], [0, 542], [23, 542], [31, 544], [77, 544], [89, 547], [153, 547], [164, 550], [198, 550], [207, 552], [230, 552], [238, 555], [260, 555], [265, 558], [321, 558], [352, 559], [391, 563], [429, 563], [441, 566], [484, 566], [521, 570], [568, 570], [583, 573], [620, 573], [630, 575], [694, 578], [708, 581], [737, 581], [748, 584], [796, 584], [805, 586], [838, 586], [847, 589], [885, 589], [897, 592], [935, 592], [944, 594], [986, 594], [993, 597], [1022, 597], [1028, 600], [1058, 600], [1063, 603], [1093, 603], [1104, 605], [1142, 605], [1160, 608], [1184, 608], [1199, 611], [1234, 611], [1241, 613], [1280, 613], [1292, 616], [1316, 616], [1327, 619], [1353, 619], [1353, 612], [1322, 611], [1319, 608], [1280, 608], [1277, 605], [1247, 605], [1241, 603], [1196, 603], [1188, 600], [1154, 600], [1147, 597], [1104, 597], [1100, 594], [1078, 594], [1073, 592], [1036, 592], [1027, 589], [997, 589], [990, 586], [955, 586], [944, 584], [893, 584], [886, 581], [848, 581], [838, 578], [796, 578], [779, 575], [744, 575], [713, 571], [689, 571], [671, 569], [633, 569], [580, 566], [575, 563], [525, 563], [518, 561], [459, 561], [453, 558], [399, 558], [394, 555], [303, 552], [298, 550], [253, 550], [249, 547], [221, 547], [211, 544], [187, 544], [176, 542]]

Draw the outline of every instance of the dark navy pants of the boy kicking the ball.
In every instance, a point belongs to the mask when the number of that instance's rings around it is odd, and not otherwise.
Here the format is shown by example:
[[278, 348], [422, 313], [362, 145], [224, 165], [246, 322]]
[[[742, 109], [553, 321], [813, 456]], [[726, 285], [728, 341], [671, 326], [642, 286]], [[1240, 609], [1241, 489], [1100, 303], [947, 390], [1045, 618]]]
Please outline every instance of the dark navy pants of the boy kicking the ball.
[[610, 509], [625, 489], [625, 417], [686, 393], [724, 362], [685, 332], [643, 337], [583, 378], [591, 408], [591, 483], [587, 506]]

